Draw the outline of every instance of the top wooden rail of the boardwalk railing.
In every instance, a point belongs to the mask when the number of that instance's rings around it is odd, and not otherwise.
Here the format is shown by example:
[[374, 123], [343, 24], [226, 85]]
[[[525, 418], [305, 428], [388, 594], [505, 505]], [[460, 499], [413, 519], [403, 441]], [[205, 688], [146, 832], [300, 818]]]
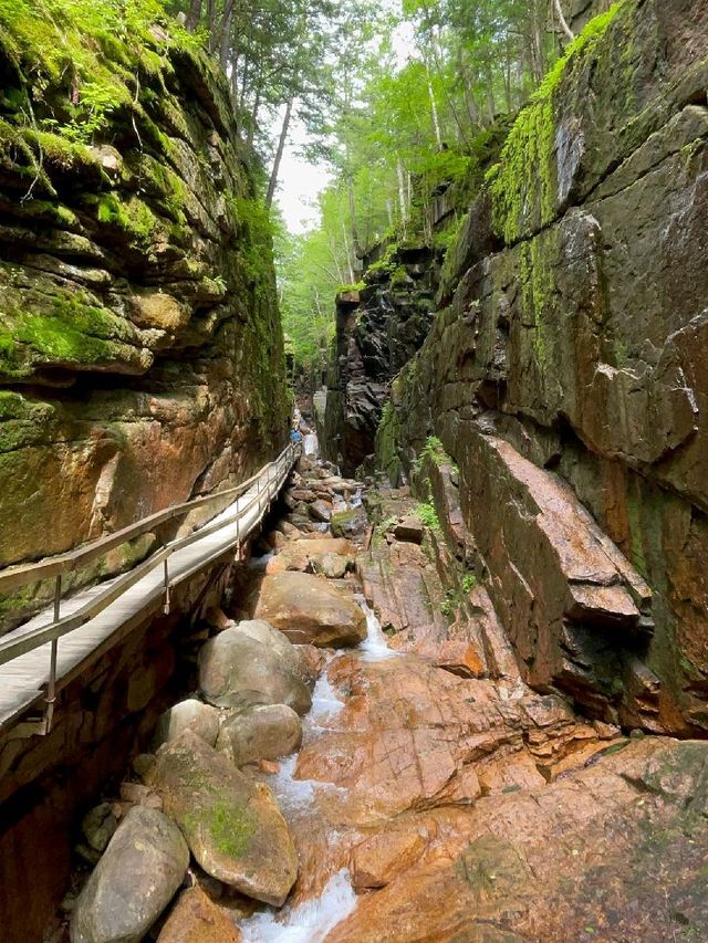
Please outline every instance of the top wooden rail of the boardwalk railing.
[[267, 462], [256, 474], [251, 475], [247, 481], [237, 484], [235, 488], [217, 491], [214, 494], [206, 494], [201, 497], [194, 497], [191, 501], [185, 501], [181, 504], [174, 504], [171, 507], [166, 507], [163, 511], [157, 511], [147, 517], [142, 517], [135, 524], [129, 524], [115, 534], [108, 534], [105, 537], [100, 537], [90, 544], [84, 544], [73, 551], [66, 551], [63, 554], [49, 557], [37, 563], [21, 564], [20, 566], [9, 566], [4, 570], [0, 570], [0, 593], [7, 593], [10, 589], [18, 589], [20, 586], [27, 586], [30, 583], [40, 583], [43, 579], [49, 579], [52, 576], [64, 575], [72, 573], [81, 564], [90, 563], [96, 557], [102, 556], [108, 551], [119, 547], [122, 544], [127, 544], [128, 541], [134, 541], [136, 537], [142, 537], [155, 527], [159, 527], [167, 521], [173, 521], [175, 517], [186, 516], [190, 511], [199, 507], [205, 507], [209, 504], [216, 504], [223, 499], [239, 499], [244, 494], [252, 484], [262, 475], [267, 468], [280, 461], [282, 455], [288, 452], [292, 446], [287, 446], [274, 462]]

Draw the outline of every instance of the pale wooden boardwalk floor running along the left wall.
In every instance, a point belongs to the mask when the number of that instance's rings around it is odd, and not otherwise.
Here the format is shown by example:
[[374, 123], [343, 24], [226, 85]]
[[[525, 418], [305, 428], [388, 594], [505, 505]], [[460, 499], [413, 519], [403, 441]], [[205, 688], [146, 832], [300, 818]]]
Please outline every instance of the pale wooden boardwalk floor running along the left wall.
[[[208, 534], [199, 538], [199, 532], [196, 532], [196, 539], [189, 546], [176, 549], [169, 557], [169, 585], [183, 583], [252, 534], [268, 513], [270, 503], [280, 493], [291, 469], [292, 462], [282, 463], [280, 460], [267, 465], [247, 492], [200, 528], [209, 531]], [[215, 530], [221, 523], [222, 526]], [[62, 599], [62, 619], [97, 600], [118, 579], [121, 577]], [[164, 568], [157, 565], [103, 611], [58, 640], [56, 690], [65, 687], [90, 660], [119, 641], [150, 612], [162, 611], [164, 604]], [[52, 624], [53, 607], [2, 636], [0, 649], [14, 639]], [[46, 642], [0, 666], [0, 731], [12, 726], [34, 708], [42, 710], [46, 698], [51, 648], [52, 642]]]

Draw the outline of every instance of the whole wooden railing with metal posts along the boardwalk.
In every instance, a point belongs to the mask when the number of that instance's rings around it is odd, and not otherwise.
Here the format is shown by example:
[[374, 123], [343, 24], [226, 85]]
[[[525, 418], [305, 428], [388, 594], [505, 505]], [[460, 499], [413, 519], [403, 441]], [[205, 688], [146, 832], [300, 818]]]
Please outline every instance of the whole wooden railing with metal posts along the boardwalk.
[[[169, 558], [173, 554], [190, 546], [210, 534], [218, 533], [232, 524], [236, 524], [236, 536], [233, 541], [228, 545], [221, 546], [218, 553], [214, 555], [214, 559], [223, 556], [225, 553], [235, 546], [240, 548], [241, 542], [246, 539], [246, 537], [263, 520], [266, 512], [270, 507], [273, 499], [280, 492], [282, 484], [299, 455], [300, 446], [290, 443], [285, 449], [283, 449], [275, 461], [263, 465], [257, 474], [252, 475], [248, 481], [242, 482], [236, 488], [219, 491], [215, 494], [205, 495], [202, 497], [196, 497], [192, 501], [187, 501], [183, 504], [176, 504], [165, 511], [159, 511], [156, 514], [144, 517], [135, 524], [131, 524], [128, 527], [117, 531], [115, 534], [110, 534], [106, 537], [102, 537], [91, 544], [77, 547], [74, 551], [69, 551], [67, 553], [52, 557], [51, 559], [0, 570], [0, 594], [19, 589], [20, 587], [29, 584], [39, 583], [52, 577], [54, 578], [54, 611], [52, 621], [30, 631], [19, 632], [17, 635], [11, 632], [6, 639], [0, 639], [0, 666], [7, 664], [20, 656], [27, 654], [27, 652], [33, 651], [48, 642], [52, 643], [50, 652], [49, 681], [46, 687], [45, 713], [38, 726], [38, 730], [34, 730], [33, 732], [48, 733], [51, 730], [55, 701], [56, 653], [59, 639], [95, 618], [112, 603], [131, 589], [131, 587], [139, 583], [139, 580], [148, 573], [152, 573], [160, 566], [163, 567], [164, 574], [163, 586], [165, 594], [165, 612], [169, 612], [171, 587], [185, 579], [188, 579], [194, 573], [205, 566], [208, 566], [212, 562], [211, 557], [199, 559], [190, 569], [185, 573], [180, 573], [173, 580], [169, 574]], [[135, 566], [128, 573], [112, 580], [111, 585], [107, 586], [103, 593], [98, 593], [77, 611], [72, 612], [70, 616], [65, 616], [64, 618], [61, 617], [62, 578], [66, 574], [76, 570], [80, 566], [91, 563], [100, 556], [103, 556], [111, 549], [119, 547], [129, 541], [134, 541], [143, 534], [155, 531], [157, 527], [160, 527], [169, 521], [186, 517], [192, 511], [205, 507], [208, 509], [217, 504], [226, 504], [228, 507], [229, 504], [238, 501], [239, 497], [246, 494], [253, 486], [256, 486], [256, 493], [251, 500], [242, 507], [238, 507], [237, 505], [237, 510], [233, 514], [206, 524], [205, 526], [195, 530], [186, 537], [163, 543], [156, 553], [152, 554], [147, 559]], [[246, 533], [242, 533], [240, 524], [256, 504], [258, 504], [256, 521]], [[222, 514], [225, 510], [226, 507], [218, 511], [217, 514]], [[42, 726], [43, 729], [39, 729]]]

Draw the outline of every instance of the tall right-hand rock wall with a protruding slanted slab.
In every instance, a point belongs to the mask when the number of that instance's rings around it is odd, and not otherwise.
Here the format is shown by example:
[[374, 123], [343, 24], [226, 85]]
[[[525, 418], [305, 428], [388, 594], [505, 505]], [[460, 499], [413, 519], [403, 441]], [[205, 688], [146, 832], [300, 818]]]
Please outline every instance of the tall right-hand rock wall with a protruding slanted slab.
[[684, 735], [708, 729], [707, 87], [705, 4], [591, 21], [488, 175], [378, 433], [393, 476], [431, 434], [459, 465], [527, 681]]

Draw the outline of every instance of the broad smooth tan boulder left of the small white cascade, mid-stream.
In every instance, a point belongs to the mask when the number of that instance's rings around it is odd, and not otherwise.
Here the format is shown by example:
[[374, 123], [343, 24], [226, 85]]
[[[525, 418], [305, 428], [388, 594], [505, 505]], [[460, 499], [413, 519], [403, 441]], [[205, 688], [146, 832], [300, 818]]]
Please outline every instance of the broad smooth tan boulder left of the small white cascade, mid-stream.
[[357, 645], [366, 638], [361, 607], [325, 579], [306, 573], [266, 576], [256, 597], [254, 616], [293, 642], [320, 648]]

